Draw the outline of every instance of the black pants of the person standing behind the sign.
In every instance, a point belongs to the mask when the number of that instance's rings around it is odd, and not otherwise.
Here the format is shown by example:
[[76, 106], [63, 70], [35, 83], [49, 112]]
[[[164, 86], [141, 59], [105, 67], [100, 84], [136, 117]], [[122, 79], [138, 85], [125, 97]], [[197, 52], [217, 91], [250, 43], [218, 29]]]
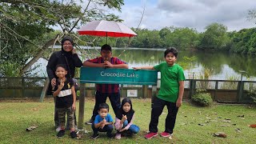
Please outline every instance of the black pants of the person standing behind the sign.
[[99, 106], [99, 104], [106, 102], [107, 97], [110, 98], [111, 106], [114, 110], [114, 114], [116, 114], [118, 108], [121, 106], [120, 92], [118, 92], [118, 93], [101, 93], [97, 90], [96, 94], [95, 94], [95, 105], [94, 105], [93, 116], [91, 117], [91, 119], [94, 120], [96, 115], [98, 115], [98, 106]]

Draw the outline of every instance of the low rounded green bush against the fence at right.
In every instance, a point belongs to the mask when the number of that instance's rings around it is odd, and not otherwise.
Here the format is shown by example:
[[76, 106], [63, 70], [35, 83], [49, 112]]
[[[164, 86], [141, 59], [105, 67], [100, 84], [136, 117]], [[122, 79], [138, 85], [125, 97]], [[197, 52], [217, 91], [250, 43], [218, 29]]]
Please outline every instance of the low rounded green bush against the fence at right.
[[192, 102], [198, 106], [210, 106], [213, 103], [213, 99], [209, 93], [199, 92], [192, 96]]

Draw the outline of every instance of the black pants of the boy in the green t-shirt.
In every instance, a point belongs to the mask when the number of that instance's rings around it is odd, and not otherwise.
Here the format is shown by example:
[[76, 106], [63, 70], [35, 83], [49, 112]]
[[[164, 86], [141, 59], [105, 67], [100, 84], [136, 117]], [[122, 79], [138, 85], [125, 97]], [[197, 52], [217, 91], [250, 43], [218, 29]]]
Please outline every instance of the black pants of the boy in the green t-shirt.
[[151, 120], [150, 120], [150, 132], [157, 133], [158, 132], [158, 119], [162, 114], [162, 110], [164, 106], [167, 106], [168, 114], [166, 116], [166, 132], [172, 134], [174, 130], [174, 125], [176, 121], [176, 116], [178, 113], [178, 107], [176, 107], [176, 103], [167, 102], [160, 98], [155, 97], [154, 103], [151, 111]]

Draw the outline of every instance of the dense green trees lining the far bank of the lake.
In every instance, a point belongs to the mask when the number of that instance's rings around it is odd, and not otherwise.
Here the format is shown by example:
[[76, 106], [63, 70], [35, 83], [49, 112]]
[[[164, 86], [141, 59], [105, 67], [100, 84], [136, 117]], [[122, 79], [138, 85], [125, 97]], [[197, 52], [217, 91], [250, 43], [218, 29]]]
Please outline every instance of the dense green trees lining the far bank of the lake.
[[[222, 50], [256, 55], [256, 28], [228, 32], [226, 26], [213, 23], [206, 26], [206, 31], [202, 33], [187, 27], [173, 26], [162, 28], [162, 30], [133, 30], [138, 36], [132, 38], [129, 47], [166, 48], [171, 46], [178, 50]], [[128, 38], [109, 39], [108, 42], [116, 47], [124, 47], [128, 43]], [[95, 43], [95, 45], [98, 44]]]

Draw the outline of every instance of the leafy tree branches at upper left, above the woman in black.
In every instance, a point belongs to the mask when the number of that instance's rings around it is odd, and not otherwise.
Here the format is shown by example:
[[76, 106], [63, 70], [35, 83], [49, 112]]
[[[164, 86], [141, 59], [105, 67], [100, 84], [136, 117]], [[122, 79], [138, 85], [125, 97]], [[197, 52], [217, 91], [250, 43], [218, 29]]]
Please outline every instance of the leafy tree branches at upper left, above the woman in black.
[[[22, 70], [17, 72], [22, 75], [49, 46], [66, 33], [74, 34], [86, 22], [122, 21], [104, 10], [121, 11], [122, 5], [123, 0], [0, 0], [0, 62], [18, 63]], [[62, 29], [61, 34], [46, 38], [56, 26]], [[32, 62], [27, 63], [30, 58]]]

